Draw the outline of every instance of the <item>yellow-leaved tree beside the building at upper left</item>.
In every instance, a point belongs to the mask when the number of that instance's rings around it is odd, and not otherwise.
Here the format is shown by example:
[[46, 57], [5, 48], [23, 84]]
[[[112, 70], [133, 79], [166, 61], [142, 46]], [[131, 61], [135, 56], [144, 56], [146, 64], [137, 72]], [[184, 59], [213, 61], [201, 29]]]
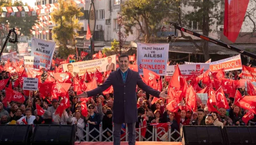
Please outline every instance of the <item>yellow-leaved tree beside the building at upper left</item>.
[[53, 27], [53, 38], [67, 48], [67, 41], [73, 42], [74, 37], [77, 36], [74, 30], [81, 29], [82, 24], [77, 18], [83, 16], [83, 13], [73, 1], [59, 0], [58, 2], [60, 9], [51, 13], [53, 22], [57, 24]]

